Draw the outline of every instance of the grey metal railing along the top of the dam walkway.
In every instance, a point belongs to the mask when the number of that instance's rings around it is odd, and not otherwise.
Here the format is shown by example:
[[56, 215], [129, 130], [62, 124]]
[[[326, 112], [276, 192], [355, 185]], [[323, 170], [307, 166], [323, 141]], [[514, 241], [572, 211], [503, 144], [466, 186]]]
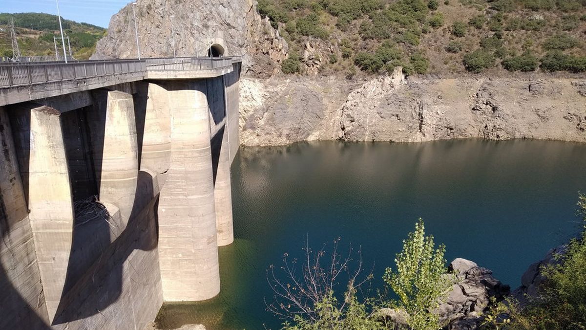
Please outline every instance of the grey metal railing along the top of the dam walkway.
[[234, 58], [176, 58], [145, 60], [81, 60], [64, 62], [0, 63], [0, 88], [34, 85], [126, 73], [171, 70], [212, 70], [240, 62]]

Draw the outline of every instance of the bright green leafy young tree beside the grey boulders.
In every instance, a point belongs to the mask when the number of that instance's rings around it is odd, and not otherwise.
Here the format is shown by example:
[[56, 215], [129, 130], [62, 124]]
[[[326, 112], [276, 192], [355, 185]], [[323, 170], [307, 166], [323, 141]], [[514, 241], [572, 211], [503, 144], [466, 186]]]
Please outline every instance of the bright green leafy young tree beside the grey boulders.
[[398, 297], [396, 305], [409, 314], [408, 324], [413, 330], [441, 328], [439, 316], [432, 311], [454, 284], [454, 277], [445, 275], [444, 254], [445, 245], [435, 247], [433, 236], [425, 235], [420, 219], [395, 258], [397, 269], [387, 268], [384, 274], [384, 282]]

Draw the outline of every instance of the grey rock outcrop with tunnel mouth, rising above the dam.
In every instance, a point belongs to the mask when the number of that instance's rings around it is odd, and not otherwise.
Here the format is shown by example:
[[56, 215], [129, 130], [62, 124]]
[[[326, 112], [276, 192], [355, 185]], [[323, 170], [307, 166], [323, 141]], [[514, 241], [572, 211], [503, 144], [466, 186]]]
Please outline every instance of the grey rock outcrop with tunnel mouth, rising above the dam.
[[[261, 19], [253, 0], [138, 0], [135, 5], [143, 58], [206, 56], [212, 43], [225, 45], [224, 55], [241, 55], [243, 72], [268, 77], [280, 70], [288, 45], [270, 23]], [[173, 22], [171, 22], [173, 16]], [[108, 35], [96, 46], [93, 59], [136, 58], [132, 5], [112, 16]]]

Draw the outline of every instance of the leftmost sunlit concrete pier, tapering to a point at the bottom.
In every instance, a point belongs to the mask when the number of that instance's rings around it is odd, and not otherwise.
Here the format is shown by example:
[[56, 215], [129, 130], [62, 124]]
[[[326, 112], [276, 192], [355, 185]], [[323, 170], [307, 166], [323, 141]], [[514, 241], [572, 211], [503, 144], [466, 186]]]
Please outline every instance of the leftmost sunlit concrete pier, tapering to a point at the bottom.
[[63, 294], [74, 220], [59, 117], [47, 106], [30, 110], [29, 218], [50, 320]]

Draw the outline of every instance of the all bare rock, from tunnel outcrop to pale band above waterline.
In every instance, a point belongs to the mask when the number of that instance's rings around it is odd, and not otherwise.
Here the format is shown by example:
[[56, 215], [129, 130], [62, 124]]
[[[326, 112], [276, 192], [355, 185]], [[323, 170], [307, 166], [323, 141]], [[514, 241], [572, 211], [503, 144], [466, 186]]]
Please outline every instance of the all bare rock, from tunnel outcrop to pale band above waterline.
[[[136, 55], [132, 5], [111, 19], [94, 58]], [[223, 41], [225, 55], [244, 56], [240, 84], [241, 143], [303, 140], [422, 142], [479, 137], [586, 142], [586, 80], [551, 75], [522, 78], [411, 77], [400, 72], [348, 80], [342, 76], [284, 76], [287, 42], [257, 13], [254, 0], [138, 0], [143, 56], [206, 55]], [[174, 16], [173, 25], [171, 16]], [[301, 60], [317, 74], [319, 41]], [[309, 65], [308, 63], [314, 63]]]

